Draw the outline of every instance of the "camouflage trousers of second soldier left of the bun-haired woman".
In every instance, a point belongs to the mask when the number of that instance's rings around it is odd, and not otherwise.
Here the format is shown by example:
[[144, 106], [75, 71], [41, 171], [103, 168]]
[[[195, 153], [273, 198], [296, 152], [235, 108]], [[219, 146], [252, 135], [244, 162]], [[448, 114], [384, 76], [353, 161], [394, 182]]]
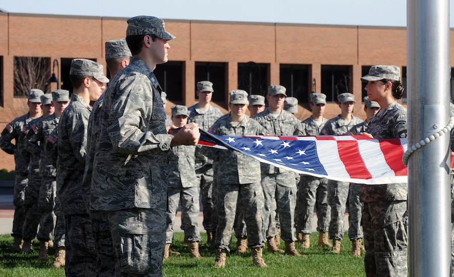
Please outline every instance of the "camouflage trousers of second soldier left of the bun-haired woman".
[[329, 239], [342, 240], [344, 236], [344, 219], [350, 183], [328, 180], [328, 204], [331, 208], [329, 221]]

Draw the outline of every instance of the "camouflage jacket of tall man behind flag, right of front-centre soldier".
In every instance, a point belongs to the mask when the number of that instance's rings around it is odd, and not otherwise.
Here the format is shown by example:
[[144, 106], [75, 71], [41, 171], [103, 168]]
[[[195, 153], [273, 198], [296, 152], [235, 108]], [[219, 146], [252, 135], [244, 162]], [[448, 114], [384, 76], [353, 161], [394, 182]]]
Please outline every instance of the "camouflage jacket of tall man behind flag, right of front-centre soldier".
[[[302, 136], [304, 135], [301, 122], [291, 113], [286, 110], [281, 110], [280, 114], [275, 118], [269, 108], [265, 108], [263, 112], [253, 117], [270, 136]], [[261, 163], [263, 174], [274, 174], [287, 172], [285, 169], [279, 169], [267, 163]]]

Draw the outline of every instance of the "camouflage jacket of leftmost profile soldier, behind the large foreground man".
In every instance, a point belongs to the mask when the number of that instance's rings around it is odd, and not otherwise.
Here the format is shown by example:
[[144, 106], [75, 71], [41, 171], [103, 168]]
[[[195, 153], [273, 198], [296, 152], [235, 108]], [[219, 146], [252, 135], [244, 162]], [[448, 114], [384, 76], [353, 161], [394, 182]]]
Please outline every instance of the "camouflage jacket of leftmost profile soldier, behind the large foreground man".
[[63, 214], [88, 213], [82, 201], [82, 175], [85, 168], [88, 118], [91, 107], [77, 95], [71, 95], [71, 102], [63, 111], [58, 126], [59, 146], [57, 158], [57, 192]]

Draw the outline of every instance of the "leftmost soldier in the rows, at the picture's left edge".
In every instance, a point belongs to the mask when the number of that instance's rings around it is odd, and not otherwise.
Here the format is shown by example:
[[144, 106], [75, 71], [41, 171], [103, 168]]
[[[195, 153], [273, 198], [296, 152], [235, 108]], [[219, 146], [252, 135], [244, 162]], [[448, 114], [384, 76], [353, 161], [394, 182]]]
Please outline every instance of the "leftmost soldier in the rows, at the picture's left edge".
[[[31, 89], [28, 93], [28, 113], [7, 124], [5, 129], [2, 131], [2, 136], [0, 136], [0, 148], [8, 154], [14, 154], [14, 161], [16, 163], [16, 180], [14, 183], [13, 195], [15, 210], [13, 232], [11, 234], [11, 236], [14, 237], [14, 243], [12, 246], [13, 251], [20, 251], [22, 249], [22, 231], [25, 220], [24, 198], [25, 188], [28, 183], [28, 164], [30, 160], [30, 157], [22, 158], [20, 155], [19, 149], [23, 147], [23, 144], [19, 138], [24, 127], [33, 119], [41, 116], [40, 97], [43, 94], [44, 92], [40, 89]], [[15, 139], [16, 144], [11, 143], [13, 139]]]

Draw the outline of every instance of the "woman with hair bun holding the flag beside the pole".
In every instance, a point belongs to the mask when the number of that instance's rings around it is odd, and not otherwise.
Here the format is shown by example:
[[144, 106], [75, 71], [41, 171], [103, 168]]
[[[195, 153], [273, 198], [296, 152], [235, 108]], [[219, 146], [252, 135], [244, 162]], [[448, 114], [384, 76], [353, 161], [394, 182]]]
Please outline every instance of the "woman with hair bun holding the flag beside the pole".
[[[370, 120], [367, 133], [375, 139], [406, 138], [407, 109], [395, 99], [402, 98], [400, 68], [372, 66], [361, 81], [380, 111]], [[364, 202], [362, 226], [367, 276], [407, 276], [407, 184], [361, 185]]]

